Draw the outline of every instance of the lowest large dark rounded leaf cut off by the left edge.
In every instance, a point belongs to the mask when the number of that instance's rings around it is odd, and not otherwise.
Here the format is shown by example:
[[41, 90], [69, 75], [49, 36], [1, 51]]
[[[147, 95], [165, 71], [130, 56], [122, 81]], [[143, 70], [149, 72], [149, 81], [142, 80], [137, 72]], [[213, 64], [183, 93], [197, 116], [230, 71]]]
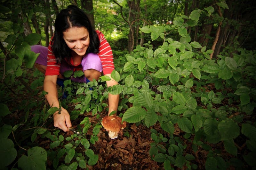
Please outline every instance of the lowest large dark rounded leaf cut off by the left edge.
[[17, 151], [14, 148], [14, 144], [11, 139], [0, 139], [0, 167], [10, 165], [17, 156]]

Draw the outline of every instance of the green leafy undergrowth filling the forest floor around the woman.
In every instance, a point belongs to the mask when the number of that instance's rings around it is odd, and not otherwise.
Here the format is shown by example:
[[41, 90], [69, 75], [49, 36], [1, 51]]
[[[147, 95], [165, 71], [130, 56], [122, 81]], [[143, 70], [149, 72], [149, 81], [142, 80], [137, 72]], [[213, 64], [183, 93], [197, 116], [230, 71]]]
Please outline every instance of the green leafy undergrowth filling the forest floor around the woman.
[[[163, 4], [161, 2], [158, 6]], [[226, 3], [216, 4], [228, 9]], [[7, 13], [12, 8], [1, 6], [1, 9], [1, 13]], [[17, 7], [11, 12], [17, 17], [21, 11]], [[203, 14], [210, 16], [213, 11], [213, 6], [209, 6], [203, 10], [196, 9], [188, 16], [176, 17], [173, 25], [142, 27], [140, 31], [151, 39], [144, 46], [136, 46], [132, 53], [115, 59], [116, 71], [111, 73], [111, 78], [118, 81], [118, 85], [104, 86], [102, 82], [111, 79], [105, 75], [99, 81], [75, 83], [70, 79], [84, 73], [65, 72], [64, 91], [68, 97], [60, 100], [59, 108], [49, 108], [44, 103], [46, 92], [40, 93], [42, 90], [39, 90], [43, 85], [43, 75], [28, 71], [39, 55], [31, 52], [30, 46], [37, 44], [41, 36], [35, 33], [23, 36], [22, 25], [27, 18], [16, 18], [12, 33], [4, 40], [8, 55], [3, 54], [4, 69], [1, 70], [3, 84], [0, 94], [6, 96], [0, 102], [0, 151], [5, 153], [1, 155], [1, 167], [46, 169], [46, 159], [52, 162], [54, 169], [95, 165], [99, 156], [93, 152], [91, 145], [98, 141], [97, 135], [102, 128], [100, 122], [94, 124], [89, 117], [84, 117], [77, 125], [80, 135], [72, 134], [66, 138], [60, 130], [51, 131], [47, 127], [52, 124], [52, 115], [59, 112], [61, 106], [68, 108], [72, 105], [71, 120], [83, 116], [85, 112], [92, 112], [92, 116], [99, 118], [98, 113], [108, 111], [105, 100], [110, 93], [120, 95], [117, 111], [123, 121], [140, 122], [150, 128], [152, 143], [149, 155], [164, 169], [197, 169], [193, 162], [197, 159], [194, 153], [198, 149], [208, 153], [205, 169], [227, 169], [230, 165], [255, 168], [255, 122], [246, 118], [254, 116], [256, 105], [255, 51], [236, 48], [234, 53], [233, 49], [225, 48], [216, 60], [211, 60], [209, 54], [213, 51], [191, 40], [188, 30], [198, 25]], [[104, 14], [102, 16], [108, 15], [103, 11], [97, 12]], [[28, 18], [32, 14], [33, 11], [25, 10]], [[102, 18], [97, 19], [100, 21]], [[111, 19], [108, 21], [112, 22]], [[111, 30], [110, 26], [105, 28]], [[176, 32], [179, 37], [167, 36], [170, 32]], [[159, 40], [161, 45], [153, 47], [151, 43]], [[37, 79], [28, 80], [30, 76]], [[16, 103], [10, 104], [12, 97], [21, 102], [17, 106]], [[128, 103], [132, 107], [129, 108]], [[16, 110], [25, 114], [16, 122], [7, 121], [15, 117]], [[163, 134], [154, 129], [156, 123], [160, 124]], [[180, 130], [179, 136], [174, 133], [176, 128]], [[129, 136], [128, 131], [124, 134]], [[246, 155], [242, 156], [236, 143], [241, 135], [246, 145]], [[35, 146], [39, 138], [50, 141], [47, 151]], [[216, 144], [233, 159], [223, 159], [218, 149], [213, 149]], [[186, 152], [188, 145], [192, 145], [193, 149], [190, 154]], [[19, 147], [22, 152], [18, 151]], [[238, 166], [241, 161], [242, 166]]]

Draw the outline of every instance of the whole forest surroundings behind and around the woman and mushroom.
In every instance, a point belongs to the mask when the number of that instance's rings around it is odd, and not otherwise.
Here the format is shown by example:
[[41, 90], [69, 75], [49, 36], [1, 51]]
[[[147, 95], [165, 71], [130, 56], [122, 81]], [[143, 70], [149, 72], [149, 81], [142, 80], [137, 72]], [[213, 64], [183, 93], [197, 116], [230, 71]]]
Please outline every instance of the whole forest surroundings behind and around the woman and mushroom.
[[[65, 81], [60, 103], [82, 135], [53, 127], [33, 68], [56, 15], [82, 8], [108, 39], [119, 82]], [[251, 169], [256, 163], [255, 1], [1, 1], [2, 169]], [[82, 73], [83, 74], [83, 73]], [[65, 76], [81, 76], [66, 72]], [[89, 89], [91, 88], [91, 90]], [[128, 123], [110, 140], [107, 95]]]

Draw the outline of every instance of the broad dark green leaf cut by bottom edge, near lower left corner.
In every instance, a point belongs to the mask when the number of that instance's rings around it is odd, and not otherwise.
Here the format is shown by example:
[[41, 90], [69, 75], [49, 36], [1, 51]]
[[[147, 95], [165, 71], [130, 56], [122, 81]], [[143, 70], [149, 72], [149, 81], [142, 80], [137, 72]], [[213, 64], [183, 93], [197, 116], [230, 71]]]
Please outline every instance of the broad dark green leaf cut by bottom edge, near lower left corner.
[[46, 169], [47, 152], [38, 146], [28, 149], [28, 156], [22, 155], [18, 160], [21, 169]]

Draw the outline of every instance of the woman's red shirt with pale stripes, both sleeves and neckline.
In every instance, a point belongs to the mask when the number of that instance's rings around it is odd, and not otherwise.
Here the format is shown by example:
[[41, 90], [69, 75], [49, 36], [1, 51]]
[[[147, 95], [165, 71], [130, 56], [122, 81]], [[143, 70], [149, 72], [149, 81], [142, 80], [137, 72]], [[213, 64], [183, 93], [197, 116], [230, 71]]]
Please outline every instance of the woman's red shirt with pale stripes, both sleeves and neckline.
[[[101, 60], [103, 74], [104, 75], [111, 74], [111, 72], [115, 69], [114, 62], [113, 62], [113, 53], [112, 53], [111, 47], [109, 46], [108, 41], [104, 37], [104, 35], [98, 30], [96, 30], [96, 32], [97, 32], [97, 34], [99, 36], [99, 40], [100, 40], [98, 55]], [[82, 70], [83, 69], [81, 63], [78, 65], [74, 65], [72, 58], [71, 58], [71, 61], [67, 61], [67, 62], [70, 65], [74, 66], [74, 70]], [[46, 67], [45, 75], [60, 75], [60, 63], [56, 64], [56, 58], [52, 51], [52, 39], [48, 46], [47, 67]]]

